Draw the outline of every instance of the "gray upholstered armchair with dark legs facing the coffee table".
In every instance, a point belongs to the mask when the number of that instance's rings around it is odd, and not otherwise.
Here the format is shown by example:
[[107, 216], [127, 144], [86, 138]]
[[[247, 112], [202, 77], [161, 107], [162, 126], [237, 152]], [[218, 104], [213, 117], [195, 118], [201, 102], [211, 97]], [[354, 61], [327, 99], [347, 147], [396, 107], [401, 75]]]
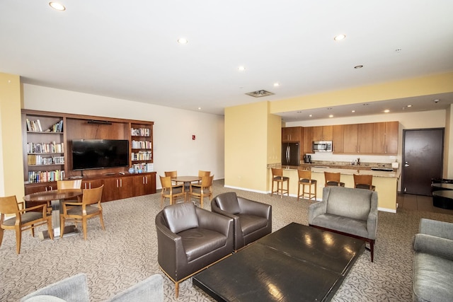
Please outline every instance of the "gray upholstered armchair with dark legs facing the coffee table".
[[324, 187], [323, 200], [309, 206], [309, 226], [367, 241], [373, 262], [377, 192], [350, 187]]

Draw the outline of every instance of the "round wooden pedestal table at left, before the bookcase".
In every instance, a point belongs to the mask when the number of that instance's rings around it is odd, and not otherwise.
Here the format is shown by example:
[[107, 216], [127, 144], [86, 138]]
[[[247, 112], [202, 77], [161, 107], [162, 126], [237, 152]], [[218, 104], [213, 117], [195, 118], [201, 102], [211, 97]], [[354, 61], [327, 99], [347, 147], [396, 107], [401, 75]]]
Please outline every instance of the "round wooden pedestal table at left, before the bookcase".
[[[59, 238], [61, 233], [59, 214], [62, 210], [62, 202], [67, 199], [77, 199], [82, 194], [84, 194], [82, 189], [49, 190], [25, 195], [23, 199], [25, 200], [25, 203], [42, 202], [47, 204], [50, 202], [52, 207], [52, 231], [54, 232], [54, 238]], [[64, 227], [64, 237], [76, 233], [79, 233], [79, 230], [77, 230], [75, 226]], [[42, 231], [40, 233], [41, 240], [47, 240], [49, 238], [47, 231]]]

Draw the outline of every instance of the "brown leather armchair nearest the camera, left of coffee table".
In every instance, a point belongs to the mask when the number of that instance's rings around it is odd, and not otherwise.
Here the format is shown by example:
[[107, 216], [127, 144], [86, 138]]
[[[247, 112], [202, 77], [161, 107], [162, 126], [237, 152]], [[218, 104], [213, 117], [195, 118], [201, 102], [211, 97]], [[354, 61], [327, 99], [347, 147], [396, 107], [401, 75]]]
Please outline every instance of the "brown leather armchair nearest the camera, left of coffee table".
[[192, 202], [160, 211], [156, 231], [159, 267], [175, 282], [176, 298], [180, 282], [234, 251], [233, 219]]

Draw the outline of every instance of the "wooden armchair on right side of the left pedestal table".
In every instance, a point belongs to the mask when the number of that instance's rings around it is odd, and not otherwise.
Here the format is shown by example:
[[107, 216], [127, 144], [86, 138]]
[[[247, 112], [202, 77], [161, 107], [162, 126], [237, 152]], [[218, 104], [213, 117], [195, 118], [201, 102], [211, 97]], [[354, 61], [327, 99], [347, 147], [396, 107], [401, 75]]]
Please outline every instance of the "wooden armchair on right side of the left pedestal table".
[[102, 216], [102, 191], [104, 185], [94, 189], [85, 189], [80, 202], [62, 202], [62, 214], [60, 214], [60, 238], [64, 235], [64, 223], [66, 221], [81, 222], [84, 230], [84, 239], [86, 240], [86, 221], [95, 216], [99, 216], [101, 227], [105, 230]]

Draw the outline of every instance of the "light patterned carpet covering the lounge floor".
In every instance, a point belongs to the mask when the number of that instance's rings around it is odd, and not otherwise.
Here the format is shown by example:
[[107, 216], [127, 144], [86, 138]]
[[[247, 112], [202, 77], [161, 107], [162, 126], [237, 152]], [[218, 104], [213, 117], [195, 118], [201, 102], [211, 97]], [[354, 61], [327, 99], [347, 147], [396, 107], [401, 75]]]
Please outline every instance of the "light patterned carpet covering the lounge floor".
[[[214, 195], [231, 191], [272, 204], [273, 231], [293, 221], [308, 224], [308, 207], [313, 202], [231, 190], [224, 187], [223, 180], [214, 181]], [[160, 193], [156, 193], [103, 203], [105, 231], [97, 218], [90, 219], [88, 240], [79, 234], [41, 242], [37, 235], [33, 238], [30, 232], [24, 232], [20, 255], [16, 254], [14, 232], [5, 231], [0, 248], [0, 301], [19, 301], [36, 289], [79, 272], [88, 277], [91, 301], [105, 301], [156, 273], [164, 276], [165, 301], [212, 301], [193, 286], [192, 279], [180, 284], [176, 299], [173, 282], [159, 270], [154, 218], [160, 211], [160, 198]], [[204, 208], [210, 210], [207, 199]], [[411, 301], [411, 244], [421, 218], [453, 222], [449, 214], [379, 211], [374, 262], [370, 262], [369, 251], [365, 250], [332, 301]], [[294, 286], [298, 286], [297, 280]]]

